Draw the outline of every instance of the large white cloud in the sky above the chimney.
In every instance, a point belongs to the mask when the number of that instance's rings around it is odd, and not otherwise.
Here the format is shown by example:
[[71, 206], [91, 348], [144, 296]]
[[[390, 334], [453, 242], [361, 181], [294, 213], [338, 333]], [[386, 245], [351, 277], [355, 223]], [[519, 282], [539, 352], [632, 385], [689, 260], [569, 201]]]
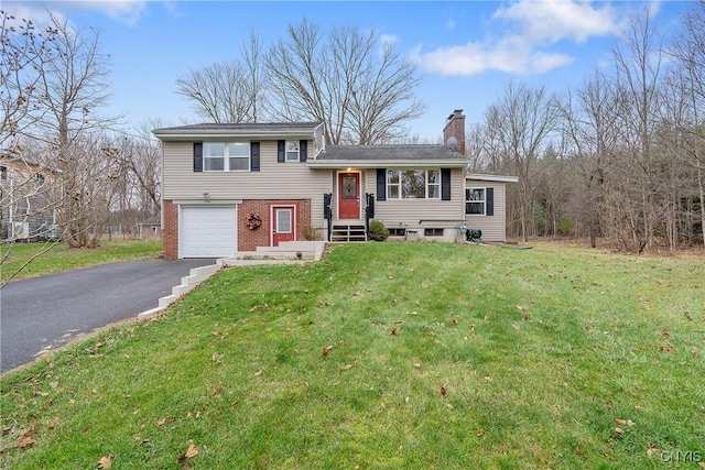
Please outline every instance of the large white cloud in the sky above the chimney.
[[500, 7], [489, 26], [509, 22], [510, 30], [484, 41], [413, 53], [415, 61], [438, 75], [477, 75], [486, 70], [544, 74], [566, 66], [574, 57], [551, 47], [563, 40], [584, 43], [618, 31], [616, 12], [584, 0], [518, 0]]

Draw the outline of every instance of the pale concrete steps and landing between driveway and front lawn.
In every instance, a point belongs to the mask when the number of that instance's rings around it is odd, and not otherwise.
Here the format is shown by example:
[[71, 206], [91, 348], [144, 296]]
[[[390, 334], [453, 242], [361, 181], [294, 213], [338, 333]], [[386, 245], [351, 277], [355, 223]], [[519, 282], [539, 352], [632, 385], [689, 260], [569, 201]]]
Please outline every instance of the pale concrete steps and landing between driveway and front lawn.
[[252, 266], [261, 264], [299, 264], [318, 261], [323, 256], [326, 243], [323, 241], [288, 241], [279, 247], [258, 247], [257, 251], [239, 252], [234, 258], [223, 258], [216, 264], [194, 267], [189, 275], [181, 278], [181, 284], [172, 287], [172, 294], [159, 299], [159, 306], [138, 315], [147, 319], [159, 314], [174, 302], [193, 291], [202, 282], [230, 266]]

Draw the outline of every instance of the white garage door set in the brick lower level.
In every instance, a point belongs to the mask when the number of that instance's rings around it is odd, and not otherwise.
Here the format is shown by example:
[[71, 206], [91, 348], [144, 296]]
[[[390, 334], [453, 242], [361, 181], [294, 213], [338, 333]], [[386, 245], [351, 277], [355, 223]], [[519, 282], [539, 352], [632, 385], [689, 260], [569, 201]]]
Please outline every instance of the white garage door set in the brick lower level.
[[180, 258], [225, 258], [237, 251], [235, 206], [181, 209]]

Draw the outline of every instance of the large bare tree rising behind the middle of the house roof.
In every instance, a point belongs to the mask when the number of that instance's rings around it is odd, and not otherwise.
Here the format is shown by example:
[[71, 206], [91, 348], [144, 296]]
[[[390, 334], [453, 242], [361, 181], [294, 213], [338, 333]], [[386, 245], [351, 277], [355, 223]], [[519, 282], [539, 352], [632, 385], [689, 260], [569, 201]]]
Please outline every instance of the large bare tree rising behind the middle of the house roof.
[[341, 28], [324, 37], [304, 20], [271, 48], [267, 69], [279, 118], [321, 121], [333, 144], [403, 138], [404, 123], [424, 111], [413, 95], [415, 65], [375, 31]]

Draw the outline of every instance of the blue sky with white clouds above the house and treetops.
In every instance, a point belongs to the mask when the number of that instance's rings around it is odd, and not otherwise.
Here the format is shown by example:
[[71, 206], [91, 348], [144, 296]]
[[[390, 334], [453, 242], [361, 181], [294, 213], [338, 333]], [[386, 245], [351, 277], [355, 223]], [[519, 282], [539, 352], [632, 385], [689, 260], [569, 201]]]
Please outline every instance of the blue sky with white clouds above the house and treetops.
[[2, 9], [37, 22], [46, 10], [75, 28], [100, 32], [110, 54], [112, 87], [105, 114], [126, 114], [127, 128], [161, 119], [200, 122], [175, 80], [189, 69], [231, 61], [253, 29], [265, 45], [303, 18], [322, 30], [375, 29], [416, 61], [416, 90], [427, 111], [409, 123], [423, 140], [441, 140], [445, 119], [464, 109], [468, 124], [509, 80], [564, 91], [609, 64], [612, 34], [649, 7], [660, 31], [677, 28], [688, 2], [662, 1], [3, 1]]

